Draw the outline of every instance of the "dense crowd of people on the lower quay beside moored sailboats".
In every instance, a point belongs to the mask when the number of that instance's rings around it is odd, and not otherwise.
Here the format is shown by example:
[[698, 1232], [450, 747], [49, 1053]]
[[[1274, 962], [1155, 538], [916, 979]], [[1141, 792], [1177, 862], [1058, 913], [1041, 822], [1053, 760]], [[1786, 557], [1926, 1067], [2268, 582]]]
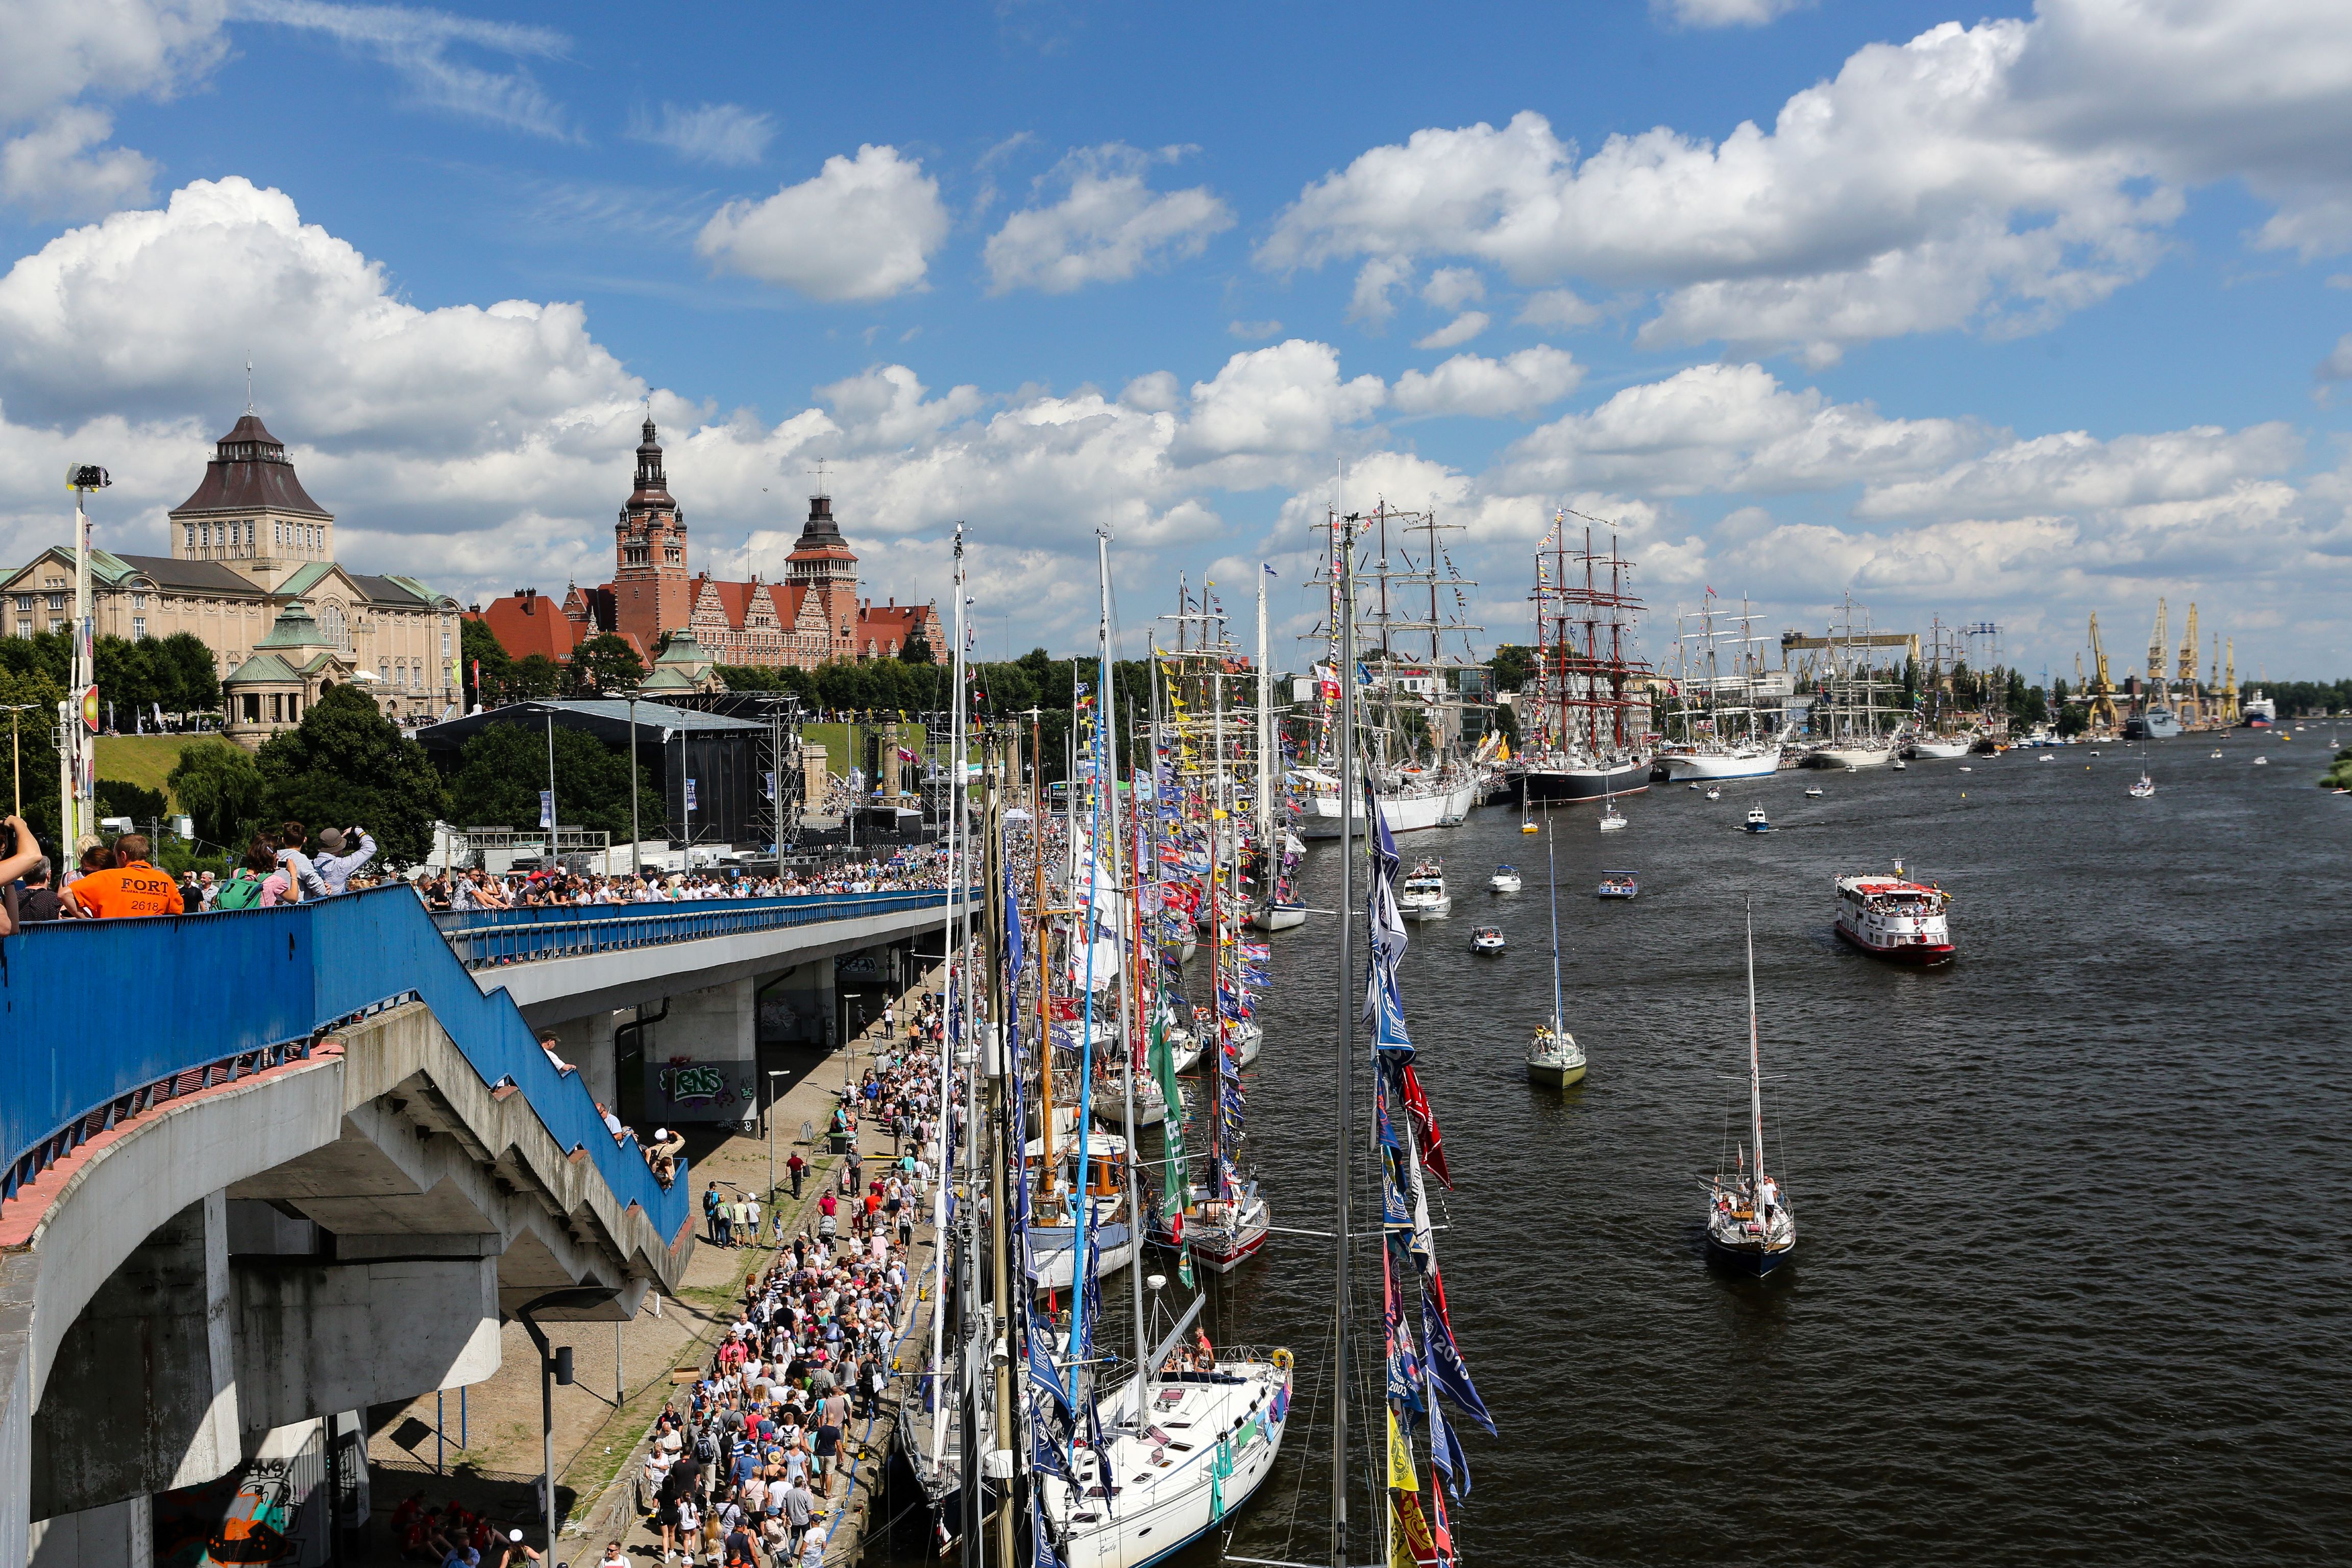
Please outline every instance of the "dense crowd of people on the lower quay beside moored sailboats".
[[[854, 1422], [889, 1399], [901, 1307], [915, 1288], [915, 1225], [936, 1178], [941, 1020], [922, 997], [903, 1037], [842, 1098], [835, 1128], [849, 1152], [816, 1199], [816, 1218], [786, 1239], [746, 1288], [736, 1321], [682, 1403], [668, 1406], [644, 1458], [644, 1502], [661, 1530], [661, 1561], [722, 1568], [818, 1568], [833, 1500], [856, 1467]], [[875, 1143], [856, 1145], [858, 1133]], [[891, 1154], [880, 1152], [889, 1135]], [[797, 1154], [795, 1154], [797, 1161]], [[800, 1194], [802, 1166], [793, 1166]], [[703, 1201], [710, 1241], [760, 1239], [760, 1208]], [[612, 1549], [607, 1549], [607, 1556]]]

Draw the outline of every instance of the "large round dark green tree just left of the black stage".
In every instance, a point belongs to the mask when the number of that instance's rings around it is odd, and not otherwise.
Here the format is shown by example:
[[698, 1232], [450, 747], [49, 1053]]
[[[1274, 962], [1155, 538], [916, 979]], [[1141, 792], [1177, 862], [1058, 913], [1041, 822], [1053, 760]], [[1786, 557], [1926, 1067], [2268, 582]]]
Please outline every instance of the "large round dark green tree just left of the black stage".
[[367, 827], [390, 865], [414, 865], [433, 849], [433, 823], [447, 806], [440, 773], [358, 686], [310, 703], [299, 726], [261, 743], [254, 764], [270, 823]]

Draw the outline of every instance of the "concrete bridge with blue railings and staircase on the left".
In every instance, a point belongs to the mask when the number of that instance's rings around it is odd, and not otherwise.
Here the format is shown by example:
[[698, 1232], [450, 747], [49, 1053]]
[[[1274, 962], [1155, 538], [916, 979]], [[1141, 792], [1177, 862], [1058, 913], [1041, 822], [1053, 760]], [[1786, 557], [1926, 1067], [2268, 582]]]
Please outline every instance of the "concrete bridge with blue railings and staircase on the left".
[[367, 1406], [487, 1378], [510, 1316], [675, 1288], [689, 1175], [663, 1187], [600, 1105], [757, 1114], [764, 1074], [818, 1060], [943, 914], [887, 893], [435, 924], [381, 889], [9, 938], [0, 1568], [148, 1563], [165, 1514], [240, 1486], [325, 1561], [367, 1519]]

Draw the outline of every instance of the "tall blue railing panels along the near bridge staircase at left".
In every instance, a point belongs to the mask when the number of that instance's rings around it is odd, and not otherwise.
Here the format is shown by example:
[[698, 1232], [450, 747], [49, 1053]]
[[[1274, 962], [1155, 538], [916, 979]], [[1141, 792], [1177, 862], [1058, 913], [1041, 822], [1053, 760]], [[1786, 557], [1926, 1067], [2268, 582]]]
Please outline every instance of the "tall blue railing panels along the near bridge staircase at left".
[[0, 1197], [120, 1117], [303, 1056], [320, 1030], [412, 997], [485, 1084], [513, 1079], [557, 1145], [588, 1150], [614, 1197], [677, 1234], [684, 1161], [663, 1187], [633, 1140], [614, 1143], [588, 1086], [555, 1072], [503, 990], [482, 994], [405, 886], [280, 910], [47, 922], [0, 940]]

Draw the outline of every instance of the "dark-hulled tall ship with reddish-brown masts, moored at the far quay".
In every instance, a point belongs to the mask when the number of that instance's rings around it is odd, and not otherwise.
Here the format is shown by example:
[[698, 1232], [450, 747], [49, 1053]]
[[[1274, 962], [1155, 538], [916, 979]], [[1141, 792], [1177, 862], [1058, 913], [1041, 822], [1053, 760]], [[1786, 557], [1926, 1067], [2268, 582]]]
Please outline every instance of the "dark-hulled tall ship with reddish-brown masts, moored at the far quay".
[[1642, 599], [1632, 562], [1569, 543], [1569, 512], [1536, 550], [1536, 668], [1522, 691], [1522, 799], [1534, 806], [1639, 795], [1649, 788], [1651, 668], [1632, 654]]

